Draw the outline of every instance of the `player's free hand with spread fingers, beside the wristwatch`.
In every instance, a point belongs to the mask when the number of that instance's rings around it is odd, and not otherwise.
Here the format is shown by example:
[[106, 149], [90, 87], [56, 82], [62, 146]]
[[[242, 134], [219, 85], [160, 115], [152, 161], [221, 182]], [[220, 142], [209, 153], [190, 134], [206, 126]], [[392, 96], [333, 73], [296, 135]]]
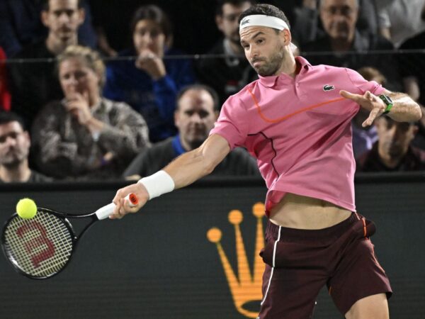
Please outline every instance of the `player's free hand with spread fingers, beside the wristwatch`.
[[366, 120], [362, 123], [363, 128], [372, 125], [375, 118], [384, 113], [385, 108], [387, 108], [384, 101], [382, 101], [378, 96], [370, 93], [370, 91], [366, 91], [365, 94], [361, 95], [341, 90], [339, 94], [346, 99], [350, 99], [358, 103], [358, 105], [370, 112], [368, 118], [366, 118]]

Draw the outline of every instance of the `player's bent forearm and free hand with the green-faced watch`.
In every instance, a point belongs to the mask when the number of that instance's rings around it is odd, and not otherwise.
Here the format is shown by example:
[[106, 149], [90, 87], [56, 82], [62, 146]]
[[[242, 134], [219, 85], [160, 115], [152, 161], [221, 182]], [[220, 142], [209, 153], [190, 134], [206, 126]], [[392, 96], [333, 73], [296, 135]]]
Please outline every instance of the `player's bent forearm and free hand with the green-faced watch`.
[[[346, 99], [351, 99], [358, 103], [361, 107], [370, 111], [369, 117], [363, 122], [363, 127], [372, 125], [375, 118], [384, 113], [387, 105], [380, 99], [379, 96], [375, 96], [366, 91], [365, 94], [352, 94], [348, 91], [340, 91], [341, 96]], [[413, 101], [413, 99], [404, 93], [397, 93], [385, 90], [384, 95], [390, 96], [393, 102], [393, 106], [387, 116], [390, 116], [394, 121], [397, 122], [414, 122], [419, 121], [422, 116], [421, 108], [418, 103]]]

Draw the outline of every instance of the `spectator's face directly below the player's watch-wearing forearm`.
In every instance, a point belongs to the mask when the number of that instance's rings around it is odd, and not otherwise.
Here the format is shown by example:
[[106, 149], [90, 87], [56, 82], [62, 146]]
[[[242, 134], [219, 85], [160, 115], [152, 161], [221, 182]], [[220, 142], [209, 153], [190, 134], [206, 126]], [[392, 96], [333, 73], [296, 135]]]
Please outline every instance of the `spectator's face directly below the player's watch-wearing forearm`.
[[412, 123], [396, 122], [385, 117], [378, 118], [375, 126], [379, 148], [390, 157], [402, 157], [406, 154], [417, 131], [416, 125]]

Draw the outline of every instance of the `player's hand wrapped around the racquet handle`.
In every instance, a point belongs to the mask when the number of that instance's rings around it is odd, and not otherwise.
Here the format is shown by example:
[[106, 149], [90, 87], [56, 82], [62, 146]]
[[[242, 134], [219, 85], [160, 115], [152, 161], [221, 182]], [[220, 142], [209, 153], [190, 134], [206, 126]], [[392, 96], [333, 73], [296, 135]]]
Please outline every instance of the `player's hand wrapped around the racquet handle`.
[[[124, 200], [125, 196], [130, 193], [135, 194], [139, 201], [135, 207], [130, 207], [129, 203], [126, 203]], [[140, 210], [140, 208], [145, 206], [145, 203], [147, 203], [148, 200], [149, 194], [147, 194], [145, 186], [140, 183], [135, 183], [130, 186], [126, 186], [123, 189], [118, 189], [117, 194], [115, 194], [115, 197], [113, 198], [113, 203], [115, 203], [116, 207], [109, 218], [121, 219], [128, 213], [136, 213]]]

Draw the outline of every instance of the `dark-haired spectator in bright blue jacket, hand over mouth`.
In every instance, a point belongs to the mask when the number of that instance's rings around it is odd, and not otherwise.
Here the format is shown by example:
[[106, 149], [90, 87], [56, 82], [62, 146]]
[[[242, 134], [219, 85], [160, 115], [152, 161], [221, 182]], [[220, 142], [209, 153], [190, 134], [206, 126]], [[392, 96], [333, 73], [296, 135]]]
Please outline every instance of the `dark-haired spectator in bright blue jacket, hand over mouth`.
[[181, 52], [171, 48], [169, 19], [157, 6], [141, 6], [135, 12], [130, 29], [133, 47], [120, 57], [137, 55], [137, 60], [121, 59], [108, 64], [104, 94], [125, 101], [142, 114], [153, 142], [176, 133], [173, 114], [179, 89], [193, 83], [189, 60], [173, 59]]

